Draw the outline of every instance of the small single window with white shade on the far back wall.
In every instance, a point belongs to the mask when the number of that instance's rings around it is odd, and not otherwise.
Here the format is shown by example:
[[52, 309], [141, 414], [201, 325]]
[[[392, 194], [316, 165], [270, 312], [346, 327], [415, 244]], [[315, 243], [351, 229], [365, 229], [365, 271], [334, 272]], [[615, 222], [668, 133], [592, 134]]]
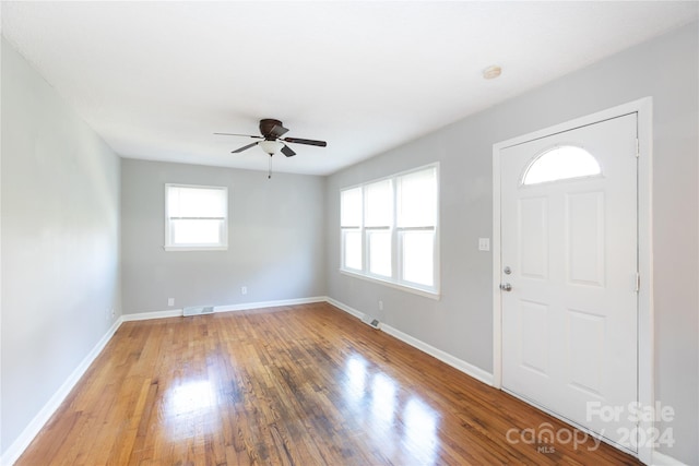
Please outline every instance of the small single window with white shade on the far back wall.
[[165, 249], [228, 249], [228, 189], [165, 184]]

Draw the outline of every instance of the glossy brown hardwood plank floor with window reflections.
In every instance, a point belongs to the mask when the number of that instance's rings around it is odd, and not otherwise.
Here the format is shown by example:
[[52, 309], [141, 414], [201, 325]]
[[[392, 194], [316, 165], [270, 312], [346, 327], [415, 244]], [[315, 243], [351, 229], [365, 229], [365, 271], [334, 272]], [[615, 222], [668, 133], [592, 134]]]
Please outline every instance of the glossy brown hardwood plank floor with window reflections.
[[16, 464], [639, 463], [316, 303], [122, 324]]

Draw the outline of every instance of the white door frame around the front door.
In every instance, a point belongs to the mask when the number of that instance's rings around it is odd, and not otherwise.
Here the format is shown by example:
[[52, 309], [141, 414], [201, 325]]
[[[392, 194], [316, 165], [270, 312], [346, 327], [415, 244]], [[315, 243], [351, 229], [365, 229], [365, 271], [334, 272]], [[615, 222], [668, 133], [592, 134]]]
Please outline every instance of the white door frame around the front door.
[[[638, 115], [638, 394], [643, 407], [655, 406], [653, 331], [653, 99], [644, 97], [493, 145], [493, 386], [502, 389], [502, 303], [500, 299], [500, 152], [509, 146], [569, 131], [628, 113]], [[649, 410], [650, 411], [650, 410]], [[639, 429], [651, 433], [654, 419], [641, 420]], [[650, 442], [649, 442], [650, 443]], [[639, 445], [638, 457], [651, 464], [653, 446]]]

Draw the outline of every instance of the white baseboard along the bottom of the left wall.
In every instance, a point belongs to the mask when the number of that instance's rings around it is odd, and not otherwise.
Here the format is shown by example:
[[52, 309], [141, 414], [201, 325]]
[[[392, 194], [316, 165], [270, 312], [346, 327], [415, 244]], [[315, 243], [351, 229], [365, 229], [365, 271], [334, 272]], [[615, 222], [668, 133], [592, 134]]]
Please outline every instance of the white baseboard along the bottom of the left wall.
[[56, 391], [54, 396], [42, 407], [42, 409], [34, 416], [34, 419], [24, 428], [20, 437], [12, 442], [12, 444], [4, 451], [2, 457], [0, 457], [0, 465], [12, 465], [16, 462], [22, 453], [29, 446], [29, 443], [34, 440], [39, 430], [48, 422], [54, 416], [54, 413], [60, 407], [61, 403], [70, 394], [71, 390], [90, 369], [90, 365], [99, 356], [102, 350], [107, 346], [107, 343], [111, 339], [114, 334], [121, 325], [121, 318], [119, 318], [105, 333], [105, 335], [97, 342], [92, 350], [85, 356], [85, 358], [78, 365], [78, 367], [66, 379], [66, 382]]

